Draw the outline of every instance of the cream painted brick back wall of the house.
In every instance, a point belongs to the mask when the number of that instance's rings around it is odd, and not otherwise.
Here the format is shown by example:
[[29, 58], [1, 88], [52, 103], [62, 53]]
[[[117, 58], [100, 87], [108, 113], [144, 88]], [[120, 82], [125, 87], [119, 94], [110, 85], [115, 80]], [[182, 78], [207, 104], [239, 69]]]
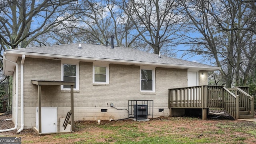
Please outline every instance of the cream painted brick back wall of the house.
[[[127, 118], [128, 100], [154, 100], [154, 117], [169, 116], [168, 89], [187, 86], [187, 70], [156, 68], [156, 92], [140, 92], [140, 66], [109, 65], [109, 85], [92, 84], [92, 62], [79, 64], [79, 91], [74, 93], [74, 120], [109, 120]], [[36, 124], [38, 87], [31, 80], [60, 80], [59, 60], [26, 58], [24, 62], [25, 128]], [[201, 81], [203, 82], [203, 80]], [[107, 106], [107, 103], [109, 106]], [[58, 117], [66, 117], [70, 110], [70, 92], [61, 92], [60, 86], [42, 86], [42, 107], [58, 107]], [[108, 112], [101, 112], [101, 109]], [[158, 112], [163, 108], [164, 112]], [[20, 118], [20, 115], [19, 115]], [[59, 118], [58, 118], [59, 120]]]

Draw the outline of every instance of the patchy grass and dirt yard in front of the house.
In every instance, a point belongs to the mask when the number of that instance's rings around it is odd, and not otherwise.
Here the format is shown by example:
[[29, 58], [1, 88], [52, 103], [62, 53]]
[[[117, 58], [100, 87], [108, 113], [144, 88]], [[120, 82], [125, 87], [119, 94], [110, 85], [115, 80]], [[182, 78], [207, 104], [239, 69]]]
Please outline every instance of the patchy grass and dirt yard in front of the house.
[[22, 144], [254, 144], [256, 123], [240, 120], [202, 120], [160, 117], [148, 122], [133, 120], [75, 122], [69, 134], [37, 136], [32, 130], [0, 133], [22, 137]]

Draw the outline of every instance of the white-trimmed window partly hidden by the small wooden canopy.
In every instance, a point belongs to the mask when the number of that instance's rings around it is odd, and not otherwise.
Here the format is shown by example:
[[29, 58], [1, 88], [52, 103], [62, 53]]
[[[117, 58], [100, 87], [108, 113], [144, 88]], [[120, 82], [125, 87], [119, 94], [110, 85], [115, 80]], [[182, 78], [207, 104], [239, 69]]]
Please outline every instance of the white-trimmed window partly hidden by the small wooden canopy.
[[[75, 82], [74, 90], [79, 90], [79, 64], [78, 63], [62, 63], [61, 64], [61, 80]], [[70, 90], [70, 85], [61, 86], [62, 90]]]

